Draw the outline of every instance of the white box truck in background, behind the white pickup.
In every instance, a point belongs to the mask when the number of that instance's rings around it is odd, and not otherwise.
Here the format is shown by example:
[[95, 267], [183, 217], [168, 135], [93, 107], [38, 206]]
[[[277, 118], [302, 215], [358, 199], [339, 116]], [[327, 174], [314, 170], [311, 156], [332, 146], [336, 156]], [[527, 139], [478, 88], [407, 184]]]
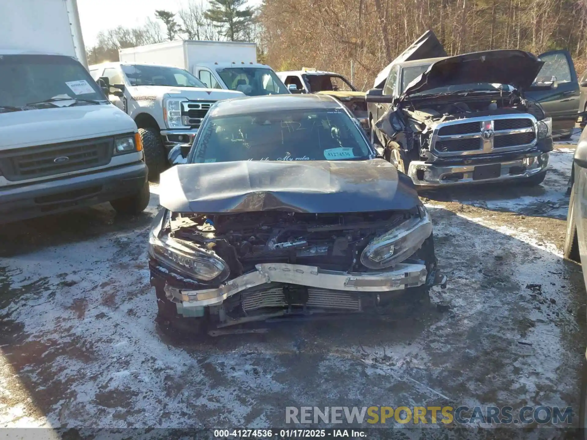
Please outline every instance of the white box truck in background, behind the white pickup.
[[176, 40], [121, 49], [119, 55], [121, 62], [180, 67], [211, 89], [248, 96], [289, 93], [271, 67], [257, 63], [255, 43]]

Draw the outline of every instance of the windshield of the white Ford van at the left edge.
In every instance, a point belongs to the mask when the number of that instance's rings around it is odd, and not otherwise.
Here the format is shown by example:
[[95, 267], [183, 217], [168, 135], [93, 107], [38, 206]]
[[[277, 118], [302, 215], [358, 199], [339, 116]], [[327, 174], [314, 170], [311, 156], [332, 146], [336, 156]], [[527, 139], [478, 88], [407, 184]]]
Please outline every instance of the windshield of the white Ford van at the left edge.
[[79, 99], [80, 105], [89, 105], [81, 100], [106, 101], [87, 70], [69, 56], [2, 55], [0, 82], [0, 113], [6, 110], [2, 106], [22, 107], [52, 98]]

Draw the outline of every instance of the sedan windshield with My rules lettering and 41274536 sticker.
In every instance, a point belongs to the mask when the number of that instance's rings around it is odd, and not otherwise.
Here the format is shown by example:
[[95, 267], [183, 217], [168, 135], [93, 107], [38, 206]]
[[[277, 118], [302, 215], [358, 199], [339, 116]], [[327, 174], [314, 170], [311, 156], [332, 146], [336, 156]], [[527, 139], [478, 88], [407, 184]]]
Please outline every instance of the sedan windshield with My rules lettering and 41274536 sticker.
[[211, 116], [193, 163], [241, 160], [364, 160], [369, 144], [342, 109], [274, 110]]

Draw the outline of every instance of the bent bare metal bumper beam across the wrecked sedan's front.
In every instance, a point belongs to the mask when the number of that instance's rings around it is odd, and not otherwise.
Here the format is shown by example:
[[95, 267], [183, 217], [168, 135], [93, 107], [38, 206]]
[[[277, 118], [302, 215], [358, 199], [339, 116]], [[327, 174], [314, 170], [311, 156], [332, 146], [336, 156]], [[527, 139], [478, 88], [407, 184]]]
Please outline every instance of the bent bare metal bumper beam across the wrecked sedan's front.
[[[393, 270], [377, 273], [346, 273], [321, 270], [315, 266], [287, 263], [263, 263], [255, 271], [241, 275], [217, 289], [187, 290], [170, 285], [164, 287], [171, 301], [181, 304], [183, 310], [191, 307], [217, 306], [228, 297], [261, 285], [282, 283], [299, 285], [330, 292], [391, 292], [427, 283], [428, 272], [421, 264], [400, 263]], [[437, 280], [437, 277], [434, 277]], [[446, 282], [446, 277], [444, 281]]]

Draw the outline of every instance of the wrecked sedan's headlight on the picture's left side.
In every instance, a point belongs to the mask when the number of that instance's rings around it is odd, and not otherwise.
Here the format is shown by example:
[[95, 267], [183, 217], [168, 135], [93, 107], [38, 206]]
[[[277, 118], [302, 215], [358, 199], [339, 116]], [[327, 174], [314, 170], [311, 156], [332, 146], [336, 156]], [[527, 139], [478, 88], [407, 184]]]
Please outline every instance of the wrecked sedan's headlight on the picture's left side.
[[230, 274], [224, 260], [214, 252], [203, 248], [194, 249], [188, 243], [169, 236], [157, 238], [152, 231], [149, 236], [149, 253], [172, 268], [204, 281], [213, 280], [223, 274], [222, 281]]

